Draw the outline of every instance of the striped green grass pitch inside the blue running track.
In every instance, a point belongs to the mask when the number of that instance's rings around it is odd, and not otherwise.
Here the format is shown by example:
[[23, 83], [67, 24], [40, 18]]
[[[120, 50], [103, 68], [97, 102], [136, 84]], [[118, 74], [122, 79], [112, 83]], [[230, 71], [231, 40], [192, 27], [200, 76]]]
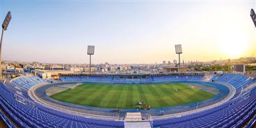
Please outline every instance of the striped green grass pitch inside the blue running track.
[[136, 108], [138, 100], [143, 100], [151, 108], [161, 108], [211, 99], [214, 94], [184, 83], [82, 84], [51, 97], [63, 102], [100, 108]]

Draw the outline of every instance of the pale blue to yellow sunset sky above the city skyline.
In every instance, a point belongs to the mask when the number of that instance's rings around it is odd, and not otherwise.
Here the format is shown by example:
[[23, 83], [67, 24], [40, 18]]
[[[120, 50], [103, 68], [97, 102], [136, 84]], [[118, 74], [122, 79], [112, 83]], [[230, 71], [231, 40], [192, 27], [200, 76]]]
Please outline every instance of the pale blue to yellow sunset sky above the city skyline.
[[256, 56], [255, 1], [0, 1], [6, 61], [212, 61]]

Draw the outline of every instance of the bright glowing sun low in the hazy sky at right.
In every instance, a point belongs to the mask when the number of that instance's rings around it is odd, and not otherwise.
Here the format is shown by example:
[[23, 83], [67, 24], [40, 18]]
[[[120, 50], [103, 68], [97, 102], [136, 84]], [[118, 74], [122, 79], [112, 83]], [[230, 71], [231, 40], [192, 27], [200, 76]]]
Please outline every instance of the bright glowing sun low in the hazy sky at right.
[[218, 45], [227, 58], [239, 58], [246, 52], [248, 40], [244, 31], [228, 29], [220, 33]]

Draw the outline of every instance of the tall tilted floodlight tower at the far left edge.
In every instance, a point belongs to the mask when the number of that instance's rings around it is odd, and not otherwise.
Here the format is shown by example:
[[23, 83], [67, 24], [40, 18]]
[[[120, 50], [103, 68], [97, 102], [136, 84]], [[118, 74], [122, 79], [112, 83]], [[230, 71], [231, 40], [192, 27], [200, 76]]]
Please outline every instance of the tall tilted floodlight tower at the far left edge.
[[2, 80], [2, 57], [1, 56], [2, 56], [3, 36], [4, 36], [4, 31], [7, 30], [11, 19], [12, 19], [11, 12], [8, 12], [2, 24], [2, 35], [1, 35], [1, 41], [0, 41], [0, 80]]

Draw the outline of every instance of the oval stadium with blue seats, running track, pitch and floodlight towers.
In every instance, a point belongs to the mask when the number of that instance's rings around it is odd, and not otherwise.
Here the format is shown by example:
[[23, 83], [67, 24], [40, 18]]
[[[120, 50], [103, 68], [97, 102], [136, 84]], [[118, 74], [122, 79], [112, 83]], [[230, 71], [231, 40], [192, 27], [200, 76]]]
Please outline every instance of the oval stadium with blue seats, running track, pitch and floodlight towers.
[[[253, 9], [251, 17], [256, 26]], [[1, 44], [11, 19], [8, 12]], [[0, 52], [0, 118], [12, 128], [256, 127], [256, 77], [216, 70], [182, 72], [181, 45], [175, 50], [175, 72], [91, 72], [94, 46], [88, 45], [89, 72], [54, 70], [52, 78], [42, 73], [10, 80], [2, 79]]]

